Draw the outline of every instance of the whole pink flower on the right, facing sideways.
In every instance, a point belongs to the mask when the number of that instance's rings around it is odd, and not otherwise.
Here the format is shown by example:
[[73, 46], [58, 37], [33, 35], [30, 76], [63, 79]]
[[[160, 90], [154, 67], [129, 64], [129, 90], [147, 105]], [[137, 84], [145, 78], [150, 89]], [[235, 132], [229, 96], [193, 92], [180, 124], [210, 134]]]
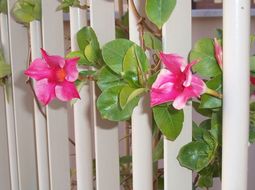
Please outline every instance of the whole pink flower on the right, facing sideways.
[[184, 58], [176, 54], [160, 54], [166, 66], [152, 85], [151, 106], [173, 101], [173, 107], [180, 110], [193, 97], [200, 97], [206, 92], [206, 85], [191, 72], [193, 61], [185, 66]]

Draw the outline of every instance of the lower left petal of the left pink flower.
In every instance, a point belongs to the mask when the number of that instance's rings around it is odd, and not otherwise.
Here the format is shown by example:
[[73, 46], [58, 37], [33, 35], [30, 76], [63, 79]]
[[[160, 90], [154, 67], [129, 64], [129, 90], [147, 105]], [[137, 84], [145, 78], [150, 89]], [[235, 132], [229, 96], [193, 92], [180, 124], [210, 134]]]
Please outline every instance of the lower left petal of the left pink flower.
[[56, 84], [48, 82], [48, 79], [39, 80], [35, 83], [35, 93], [38, 100], [44, 104], [49, 104], [55, 97]]

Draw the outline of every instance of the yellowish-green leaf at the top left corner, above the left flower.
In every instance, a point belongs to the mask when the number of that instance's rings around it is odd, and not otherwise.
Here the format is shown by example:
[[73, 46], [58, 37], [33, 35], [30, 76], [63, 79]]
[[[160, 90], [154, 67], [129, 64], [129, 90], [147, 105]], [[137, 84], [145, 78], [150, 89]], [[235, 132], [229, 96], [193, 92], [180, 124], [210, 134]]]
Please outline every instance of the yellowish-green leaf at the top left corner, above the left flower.
[[12, 8], [15, 20], [25, 25], [41, 20], [41, 2], [39, 0], [19, 0]]

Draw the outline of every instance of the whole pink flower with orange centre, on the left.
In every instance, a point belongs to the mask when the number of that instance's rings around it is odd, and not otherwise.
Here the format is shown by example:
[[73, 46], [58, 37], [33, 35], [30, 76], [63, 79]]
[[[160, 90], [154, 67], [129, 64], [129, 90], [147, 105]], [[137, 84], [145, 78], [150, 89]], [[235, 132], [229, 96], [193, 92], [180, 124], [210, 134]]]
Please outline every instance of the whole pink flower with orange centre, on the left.
[[41, 49], [42, 57], [35, 59], [25, 75], [36, 80], [35, 93], [40, 102], [49, 104], [54, 98], [70, 101], [80, 98], [74, 82], [78, 78], [77, 61], [79, 58], [64, 59], [48, 55]]

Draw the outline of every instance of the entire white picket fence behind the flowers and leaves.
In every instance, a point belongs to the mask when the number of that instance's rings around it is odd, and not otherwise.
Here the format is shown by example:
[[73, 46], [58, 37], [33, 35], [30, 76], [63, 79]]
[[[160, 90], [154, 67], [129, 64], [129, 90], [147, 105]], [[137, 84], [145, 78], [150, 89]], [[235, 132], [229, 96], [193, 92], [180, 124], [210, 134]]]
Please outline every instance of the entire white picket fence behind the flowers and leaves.
[[[1, 45], [7, 62], [12, 66], [12, 77], [7, 86], [9, 100], [0, 89], [0, 189], [70, 189], [68, 115], [72, 114], [77, 189], [92, 190], [94, 184], [97, 190], [120, 189], [118, 124], [106, 123], [100, 118], [95, 107], [94, 84], [83, 88], [83, 99], [73, 109], [59, 102], [46, 107], [45, 119], [25, 83], [23, 72], [28, 66], [29, 40], [33, 59], [40, 57], [41, 47], [50, 54], [64, 55], [63, 14], [56, 12], [58, 1], [42, 0], [42, 21], [31, 22], [30, 35], [12, 18], [10, 12], [14, 3], [15, 0], [8, 0], [8, 15], [0, 15]], [[90, 4], [90, 24], [100, 44], [113, 40], [114, 0], [81, 0], [81, 3]], [[135, 3], [139, 7], [143, 1], [135, 0]], [[249, 6], [250, 0], [224, 1], [223, 190], [247, 189]], [[137, 20], [132, 11], [129, 14], [130, 40], [139, 43]], [[86, 10], [70, 9], [72, 50], [77, 49], [76, 32], [88, 24], [87, 15]], [[191, 49], [191, 18], [191, 1], [177, 0], [177, 7], [163, 28], [165, 52], [188, 55]], [[232, 89], [236, 82], [240, 85], [238, 92]], [[142, 101], [147, 103], [148, 99]], [[236, 107], [241, 110], [232, 109], [232, 101], [240, 102]], [[151, 113], [144, 113], [142, 104], [140, 102], [132, 116], [133, 189], [152, 190]], [[192, 190], [192, 173], [180, 167], [176, 160], [180, 147], [191, 141], [191, 113], [189, 105], [185, 109], [181, 136], [175, 142], [164, 140], [165, 190]]]

